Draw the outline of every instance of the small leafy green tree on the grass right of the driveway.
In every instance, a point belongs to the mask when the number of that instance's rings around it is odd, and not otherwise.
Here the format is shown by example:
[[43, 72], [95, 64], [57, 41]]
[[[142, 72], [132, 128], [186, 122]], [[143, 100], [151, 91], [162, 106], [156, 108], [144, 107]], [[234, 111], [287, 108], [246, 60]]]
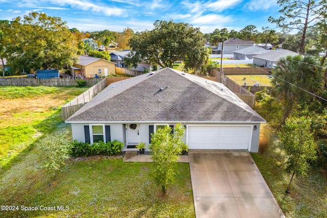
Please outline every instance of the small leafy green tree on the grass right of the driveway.
[[288, 118], [278, 132], [287, 154], [286, 172], [292, 174], [287, 192], [294, 176], [306, 176], [309, 160], [316, 159], [316, 143], [311, 131], [311, 119], [305, 116]]

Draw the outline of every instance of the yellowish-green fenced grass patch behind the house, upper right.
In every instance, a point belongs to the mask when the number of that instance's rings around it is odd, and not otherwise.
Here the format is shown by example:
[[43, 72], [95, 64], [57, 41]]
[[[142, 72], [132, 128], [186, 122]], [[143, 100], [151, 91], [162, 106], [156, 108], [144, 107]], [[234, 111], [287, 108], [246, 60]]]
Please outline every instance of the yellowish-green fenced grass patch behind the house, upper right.
[[248, 86], [253, 86], [254, 83], [259, 83], [260, 86], [271, 86], [271, 79], [268, 78], [268, 75], [227, 75], [226, 77], [239, 85], [244, 85], [246, 82]]

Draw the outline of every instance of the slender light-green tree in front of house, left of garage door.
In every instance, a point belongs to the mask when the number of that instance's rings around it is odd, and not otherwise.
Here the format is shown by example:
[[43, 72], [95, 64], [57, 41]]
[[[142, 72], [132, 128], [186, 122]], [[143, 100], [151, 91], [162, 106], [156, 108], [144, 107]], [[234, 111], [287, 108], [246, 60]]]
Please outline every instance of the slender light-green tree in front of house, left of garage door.
[[174, 133], [167, 125], [165, 128], [157, 129], [152, 134], [152, 142], [149, 149], [152, 151], [154, 164], [156, 165], [153, 175], [154, 181], [161, 186], [162, 191], [166, 192], [167, 185], [171, 183], [176, 175], [176, 163], [178, 154], [181, 153], [181, 145], [184, 128], [181, 124], [177, 124]]

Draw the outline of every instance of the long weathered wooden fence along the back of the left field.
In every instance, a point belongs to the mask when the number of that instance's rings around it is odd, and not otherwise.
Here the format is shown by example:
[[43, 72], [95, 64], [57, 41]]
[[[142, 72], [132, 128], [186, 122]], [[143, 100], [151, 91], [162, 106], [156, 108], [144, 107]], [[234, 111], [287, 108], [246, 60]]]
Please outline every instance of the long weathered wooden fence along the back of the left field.
[[51, 78], [37, 79], [26, 77], [0, 78], [0, 86], [77, 86], [76, 80], [85, 80], [87, 86], [93, 86], [101, 81], [101, 78]]

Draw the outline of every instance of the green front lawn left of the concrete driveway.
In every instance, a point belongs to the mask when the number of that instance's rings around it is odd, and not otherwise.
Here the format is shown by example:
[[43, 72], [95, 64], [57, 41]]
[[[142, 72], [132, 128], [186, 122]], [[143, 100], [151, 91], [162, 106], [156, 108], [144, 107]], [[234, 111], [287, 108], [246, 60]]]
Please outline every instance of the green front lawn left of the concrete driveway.
[[[62, 131], [71, 140], [70, 125]], [[178, 163], [180, 174], [163, 195], [149, 174], [152, 163], [124, 163], [120, 156], [76, 158], [53, 174], [41, 168], [42, 161], [38, 147], [32, 146], [3, 172], [1, 205], [19, 210], [0, 211], [0, 217], [195, 217], [187, 163]], [[22, 211], [21, 206], [38, 210]]]

